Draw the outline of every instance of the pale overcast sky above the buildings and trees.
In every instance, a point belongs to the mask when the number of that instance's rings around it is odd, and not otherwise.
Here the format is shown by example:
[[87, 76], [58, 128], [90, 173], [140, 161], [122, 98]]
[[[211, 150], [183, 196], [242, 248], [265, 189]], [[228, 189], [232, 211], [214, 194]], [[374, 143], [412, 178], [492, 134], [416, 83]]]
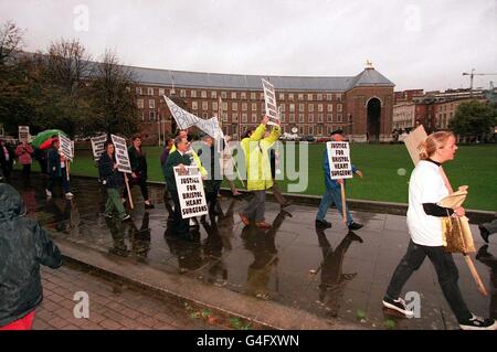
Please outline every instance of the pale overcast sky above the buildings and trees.
[[28, 51], [74, 38], [95, 58], [108, 47], [145, 67], [353, 76], [369, 58], [395, 90], [497, 74], [496, 0], [0, 0], [6, 20], [27, 31]]

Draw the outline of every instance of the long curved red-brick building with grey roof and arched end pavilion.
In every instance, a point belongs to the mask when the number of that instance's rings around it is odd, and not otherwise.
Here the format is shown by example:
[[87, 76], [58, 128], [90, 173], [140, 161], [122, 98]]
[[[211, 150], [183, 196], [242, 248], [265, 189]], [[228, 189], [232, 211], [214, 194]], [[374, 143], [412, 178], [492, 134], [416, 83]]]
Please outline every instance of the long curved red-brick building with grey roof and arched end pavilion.
[[[328, 136], [342, 128], [355, 141], [389, 141], [394, 84], [368, 65], [352, 77], [256, 76], [130, 67], [142, 134], [157, 143], [159, 131], [172, 134], [176, 124], [162, 95], [201, 118], [221, 110], [224, 134], [237, 138], [264, 114], [261, 78], [276, 90], [284, 132]], [[222, 106], [220, 107], [220, 98]]]

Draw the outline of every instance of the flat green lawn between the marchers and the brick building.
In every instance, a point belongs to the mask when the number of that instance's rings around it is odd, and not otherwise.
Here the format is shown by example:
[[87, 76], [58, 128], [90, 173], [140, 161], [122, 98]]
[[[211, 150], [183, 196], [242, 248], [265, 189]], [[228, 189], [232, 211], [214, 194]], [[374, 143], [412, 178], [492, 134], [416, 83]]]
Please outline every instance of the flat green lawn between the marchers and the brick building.
[[[146, 148], [149, 179], [163, 181], [160, 170], [159, 147]], [[324, 143], [309, 145], [309, 185], [306, 194], [322, 194]], [[352, 162], [363, 172], [364, 178], [355, 178], [348, 183], [348, 198], [408, 202], [408, 181], [413, 169], [411, 158], [403, 145], [352, 145]], [[468, 209], [497, 211], [497, 146], [461, 146], [456, 159], [445, 167], [454, 189], [467, 184], [469, 195], [465, 203]], [[38, 169], [38, 164], [33, 168]], [[405, 174], [399, 174], [404, 169]], [[402, 173], [402, 172], [401, 172]], [[77, 150], [72, 164], [72, 174], [96, 177], [97, 171], [89, 150]], [[286, 191], [286, 181], [281, 181]]]

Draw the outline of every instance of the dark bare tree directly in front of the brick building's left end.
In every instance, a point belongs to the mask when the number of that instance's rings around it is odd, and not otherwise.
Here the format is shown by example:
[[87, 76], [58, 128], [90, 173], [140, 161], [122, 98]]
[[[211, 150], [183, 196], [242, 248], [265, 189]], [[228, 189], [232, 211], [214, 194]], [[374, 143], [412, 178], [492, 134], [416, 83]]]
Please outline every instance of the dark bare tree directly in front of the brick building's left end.
[[138, 131], [139, 110], [131, 87], [131, 72], [119, 64], [115, 53], [106, 51], [95, 64], [89, 82], [91, 107], [94, 113], [85, 121], [85, 136], [97, 132], [130, 137]]

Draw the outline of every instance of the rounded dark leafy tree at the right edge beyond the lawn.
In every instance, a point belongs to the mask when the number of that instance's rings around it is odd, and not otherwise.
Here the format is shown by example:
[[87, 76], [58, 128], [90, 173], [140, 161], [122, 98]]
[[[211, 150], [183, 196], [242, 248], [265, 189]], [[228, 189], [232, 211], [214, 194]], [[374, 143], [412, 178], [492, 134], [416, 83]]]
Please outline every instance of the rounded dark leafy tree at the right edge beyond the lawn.
[[475, 137], [479, 140], [497, 124], [497, 110], [488, 104], [469, 100], [462, 103], [448, 124], [448, 128], [462, 138]]

